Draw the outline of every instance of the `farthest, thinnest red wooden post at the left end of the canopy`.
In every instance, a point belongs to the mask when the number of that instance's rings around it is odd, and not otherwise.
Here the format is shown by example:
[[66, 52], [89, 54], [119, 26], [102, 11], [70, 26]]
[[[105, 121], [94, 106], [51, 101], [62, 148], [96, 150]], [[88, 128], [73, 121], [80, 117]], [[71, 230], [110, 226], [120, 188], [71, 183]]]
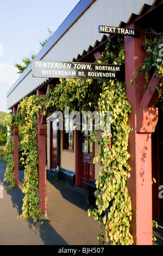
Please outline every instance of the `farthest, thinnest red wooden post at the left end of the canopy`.
[[[12, 114], [17, 114], [17, 107], [13, 107], [12, 108]], [[13, 137], [14, 137], [14, 142], [15, 142], [15, 148], [14, 148], [14, 162], [15, 162], [15, 166], [14, 166], [14, 175], [15, 175], [15, 186], [18, 187], [18, 129], [16, 127], [16, 125], [14, 126], [14, 130], [13, 130]]]

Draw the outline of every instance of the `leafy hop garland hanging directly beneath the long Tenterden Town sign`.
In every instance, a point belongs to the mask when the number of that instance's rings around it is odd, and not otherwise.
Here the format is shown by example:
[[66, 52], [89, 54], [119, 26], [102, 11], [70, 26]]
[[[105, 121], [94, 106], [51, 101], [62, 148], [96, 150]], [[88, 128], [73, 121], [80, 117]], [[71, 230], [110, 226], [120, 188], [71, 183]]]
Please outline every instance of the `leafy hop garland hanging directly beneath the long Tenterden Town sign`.
[[98, 100], [100, 85], [92, 80], [60, 78], [60, 83], [55, 84], [47, 95], [46, 107], [56, 106], [61, 111], [66, 106], [71, 111], [89, 109], [89, 102]]

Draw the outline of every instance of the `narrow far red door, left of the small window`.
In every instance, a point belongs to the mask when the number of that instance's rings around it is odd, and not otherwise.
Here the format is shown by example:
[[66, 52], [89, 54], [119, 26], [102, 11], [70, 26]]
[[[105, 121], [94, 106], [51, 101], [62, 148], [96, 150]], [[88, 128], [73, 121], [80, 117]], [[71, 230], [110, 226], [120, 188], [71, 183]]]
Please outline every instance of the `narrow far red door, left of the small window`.
[[57, 118], [51, 120], [51, 170], [57, 168]]

